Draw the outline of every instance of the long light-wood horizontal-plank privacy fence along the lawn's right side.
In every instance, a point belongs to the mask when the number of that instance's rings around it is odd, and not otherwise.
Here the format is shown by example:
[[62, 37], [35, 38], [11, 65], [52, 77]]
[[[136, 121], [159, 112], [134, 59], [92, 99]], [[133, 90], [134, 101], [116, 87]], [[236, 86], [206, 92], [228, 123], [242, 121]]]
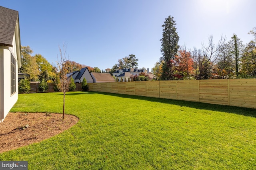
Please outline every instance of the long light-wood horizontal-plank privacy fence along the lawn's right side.
[[88, 83], [89, 90], [256, 108], [256, 79]]

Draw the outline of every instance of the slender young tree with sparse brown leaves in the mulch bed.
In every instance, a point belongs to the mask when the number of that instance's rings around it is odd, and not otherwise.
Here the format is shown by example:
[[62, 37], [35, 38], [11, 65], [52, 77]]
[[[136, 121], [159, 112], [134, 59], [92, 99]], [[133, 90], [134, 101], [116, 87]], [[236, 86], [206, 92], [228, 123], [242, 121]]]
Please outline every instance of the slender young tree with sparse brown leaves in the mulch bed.
[[[65, 96], [66, 92], [69, 90], [70, 86], [70, 78], [68, 77], [68, 73], [73, 72], [72, 66], [69, 64], [66, 64], [66, 45], [63, 45], [63, 50], [59, 46], [59, 52], [60, 52], [60, 58], [57, 55], [57, 67], [56, 67], [56, 77], [55, 77], [55, 83], [60, 92], [63, 93], [63, 113], [62, 113], [62, 119], [64, 119], [65, 115]], [[59, 82], [57, 83], [57, 80]]]

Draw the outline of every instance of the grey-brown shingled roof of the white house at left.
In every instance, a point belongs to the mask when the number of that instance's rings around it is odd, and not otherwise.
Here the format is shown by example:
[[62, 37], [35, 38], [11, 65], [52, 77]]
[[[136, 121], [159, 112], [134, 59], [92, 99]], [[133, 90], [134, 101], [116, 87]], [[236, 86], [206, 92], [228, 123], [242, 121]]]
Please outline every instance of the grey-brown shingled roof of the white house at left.
[[0, 6], [0, 45], [12, 47], [18, 11]]

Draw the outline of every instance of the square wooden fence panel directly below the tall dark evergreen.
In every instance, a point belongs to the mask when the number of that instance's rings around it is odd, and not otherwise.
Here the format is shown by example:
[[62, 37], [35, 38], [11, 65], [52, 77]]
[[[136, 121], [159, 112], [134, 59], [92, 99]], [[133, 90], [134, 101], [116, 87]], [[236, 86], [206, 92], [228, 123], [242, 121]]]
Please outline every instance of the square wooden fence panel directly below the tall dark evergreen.
[[160, 81], [160, 98], [177, 99], [177, 81]]

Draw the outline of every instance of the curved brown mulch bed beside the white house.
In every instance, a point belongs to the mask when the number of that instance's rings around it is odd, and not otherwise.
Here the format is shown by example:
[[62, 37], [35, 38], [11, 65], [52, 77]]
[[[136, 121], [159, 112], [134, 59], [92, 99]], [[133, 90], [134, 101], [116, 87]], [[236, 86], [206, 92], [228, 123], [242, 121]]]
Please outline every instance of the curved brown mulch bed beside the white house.
[[40, 142], [62, 133], [78, 122], [78, 117], [58, 113], [8, 113], [0, 123], [0, 153]]

